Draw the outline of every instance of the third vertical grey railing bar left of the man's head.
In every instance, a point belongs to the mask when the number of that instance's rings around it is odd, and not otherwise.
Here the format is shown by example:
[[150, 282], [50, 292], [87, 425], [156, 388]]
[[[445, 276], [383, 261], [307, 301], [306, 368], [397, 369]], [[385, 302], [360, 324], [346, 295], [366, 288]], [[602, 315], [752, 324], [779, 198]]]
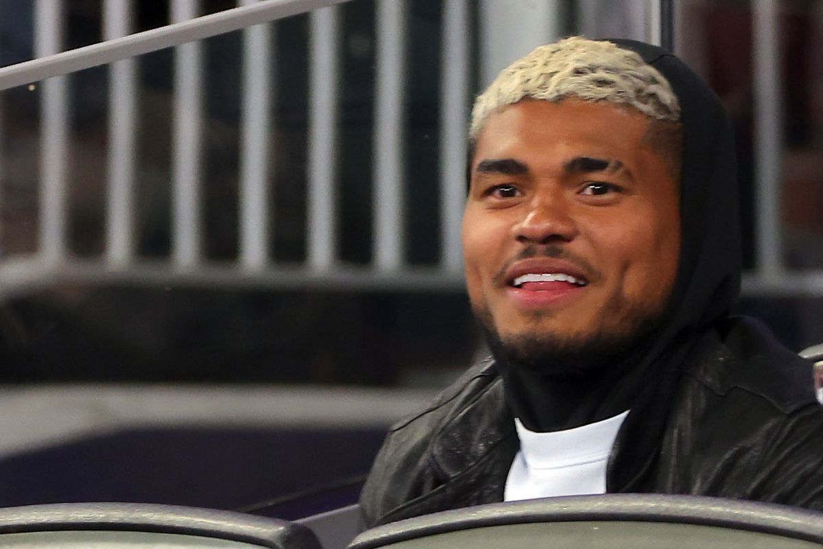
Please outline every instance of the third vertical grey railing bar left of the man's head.
[[309, 268], [322, 272], [335, 258], [337, 179], [337, 6], [310, 15]]

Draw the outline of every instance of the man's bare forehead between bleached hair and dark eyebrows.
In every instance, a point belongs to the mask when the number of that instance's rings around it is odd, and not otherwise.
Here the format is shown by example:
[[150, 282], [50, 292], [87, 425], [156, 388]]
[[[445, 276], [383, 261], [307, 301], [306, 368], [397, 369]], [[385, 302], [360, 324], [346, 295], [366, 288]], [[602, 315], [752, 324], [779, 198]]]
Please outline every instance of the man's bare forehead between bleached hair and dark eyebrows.
[[642, 142], [648, 126], [644, 114], [608, 103], [522, 100], [486, 119], [472, 168], [490, 158], [516, 158], [533, 165], [580, 155], [631, 165], [648, 151]]

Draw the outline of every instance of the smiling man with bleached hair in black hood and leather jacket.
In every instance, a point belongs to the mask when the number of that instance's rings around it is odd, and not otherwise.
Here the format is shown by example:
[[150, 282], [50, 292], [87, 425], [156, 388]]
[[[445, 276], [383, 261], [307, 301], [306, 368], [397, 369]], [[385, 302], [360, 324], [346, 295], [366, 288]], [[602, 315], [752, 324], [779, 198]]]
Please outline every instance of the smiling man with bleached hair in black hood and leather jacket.
[[732, 137], [671, 54], [573, 38], [478, 97], [463, 251], [493, 358], [390, 430], [367, 526], [603, 492], [823, 508], [811, 365], [739, 291]]

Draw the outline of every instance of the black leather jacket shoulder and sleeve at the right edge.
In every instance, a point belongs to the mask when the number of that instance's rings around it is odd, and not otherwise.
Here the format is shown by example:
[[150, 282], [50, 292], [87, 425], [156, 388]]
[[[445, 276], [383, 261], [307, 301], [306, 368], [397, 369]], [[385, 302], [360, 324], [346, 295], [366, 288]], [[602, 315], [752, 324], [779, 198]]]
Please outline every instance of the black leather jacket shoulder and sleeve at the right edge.
[[753, 319], [704, 333], [663, 443], [663, 491], [823, 509], [812, 365]]

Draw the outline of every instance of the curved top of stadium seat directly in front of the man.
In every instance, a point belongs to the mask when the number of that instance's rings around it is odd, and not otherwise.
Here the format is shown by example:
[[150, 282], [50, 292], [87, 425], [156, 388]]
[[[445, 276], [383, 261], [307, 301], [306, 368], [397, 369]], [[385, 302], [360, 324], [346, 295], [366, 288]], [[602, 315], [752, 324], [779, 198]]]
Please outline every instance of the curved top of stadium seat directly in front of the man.
[[823, 514], [688, 495], [607, 494], [513, 501], [388, 523], [349, 549], [811, 549]]

